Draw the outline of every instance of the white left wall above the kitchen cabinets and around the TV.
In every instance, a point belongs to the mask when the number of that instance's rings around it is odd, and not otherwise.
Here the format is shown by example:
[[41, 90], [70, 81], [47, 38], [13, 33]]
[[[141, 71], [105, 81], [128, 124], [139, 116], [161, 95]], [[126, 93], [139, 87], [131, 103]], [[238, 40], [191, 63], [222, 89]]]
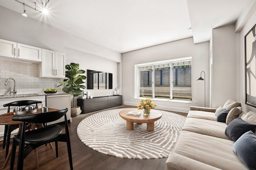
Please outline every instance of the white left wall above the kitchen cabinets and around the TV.
[[[79, 63], [80, 69], [83, 70], [110, 72], [113, 74], [113, 87], [118, 86], [120, 53], [32, 18], [25, 18], [20, 13], [2, 6], [0, 6], [0, 22], [0, 39], [66, 53], [66, 64], [74, 62]], [[0, 71], [2, 72], [1, 68]], [[6, 88], [2, 86], [5, 81], [6, 77], [0, 76], [1, 88]], [[113, 93], [112, 90], [90, 91], [92, 96]]]

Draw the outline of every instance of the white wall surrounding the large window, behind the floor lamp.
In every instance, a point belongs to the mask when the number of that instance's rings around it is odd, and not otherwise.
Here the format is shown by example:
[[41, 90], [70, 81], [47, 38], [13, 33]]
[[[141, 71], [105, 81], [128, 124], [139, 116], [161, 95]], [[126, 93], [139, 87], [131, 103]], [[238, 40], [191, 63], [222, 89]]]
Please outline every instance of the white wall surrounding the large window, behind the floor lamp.
[[[193, 103], [155, 101], [158, 108], [188, 111], [190, 106], [204, 106], [204, 81], [196, 81], [200, 72], [206, 73], [206, 106], [209, 106], [209, 41], [194, 44], [193, 38], [164, 43], [122, 54], [123, 103], [136, 106], [134, 99], [134, 64], [192, 57], [192, 100]], [[194, 103], [197, 101], [198, 103]]]

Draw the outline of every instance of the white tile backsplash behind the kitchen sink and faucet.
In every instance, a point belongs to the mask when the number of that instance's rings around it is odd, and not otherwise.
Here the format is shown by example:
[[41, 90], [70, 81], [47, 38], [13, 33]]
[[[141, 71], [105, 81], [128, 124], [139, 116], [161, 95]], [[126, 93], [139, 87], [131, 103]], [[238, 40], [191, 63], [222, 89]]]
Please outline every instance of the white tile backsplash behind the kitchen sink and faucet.
[[[0, 59], [0, 95], [9, 94], [10, 88], [13, 90], [14, 82], [9, 80], [7, 86], [5, 82], [8, 78], [15, 79], [17, 94], [40, 93], [46, 88], [54, 88], [54, 84], [59, 85], [62, 78], [38, 78], [38, 63], [20, 63]], [[61, 92], [62, 86], [57, 88]]]

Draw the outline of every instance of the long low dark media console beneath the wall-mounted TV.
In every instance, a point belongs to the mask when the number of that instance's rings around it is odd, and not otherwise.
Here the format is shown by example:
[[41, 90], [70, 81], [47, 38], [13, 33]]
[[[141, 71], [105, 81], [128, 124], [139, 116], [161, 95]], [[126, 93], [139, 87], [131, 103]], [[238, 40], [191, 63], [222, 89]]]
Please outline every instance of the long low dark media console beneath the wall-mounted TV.
[[122, 96], [101, 96], [92, 99], [77, 99], [77, 106], [81, 107], [82, 113], [90, 113], [122, 105]]

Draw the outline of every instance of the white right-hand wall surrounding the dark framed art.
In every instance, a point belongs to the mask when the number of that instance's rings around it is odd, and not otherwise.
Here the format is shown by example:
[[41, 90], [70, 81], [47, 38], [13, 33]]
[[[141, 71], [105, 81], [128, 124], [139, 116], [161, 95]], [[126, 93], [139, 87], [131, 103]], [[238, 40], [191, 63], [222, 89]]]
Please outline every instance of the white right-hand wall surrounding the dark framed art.
[[[256, 108], [252, 106], [248, 106], [245, 104], [245, 68], [244, 68], [244, 36], [252, 29], [252, 27], [256, 24], [256, 11], [250, 19], [246, 22], [243, 29], [240, 32], [240, 43], [238, 46], [240, 47], [240, 53], [237, 55], [237, 76], [238, 76], [238, 86], [236, 88], [238, 92], [237, 100], [242, 103], [242, 108], [245, 111], [254, 111], [256, 112]], [[238, 39], [238, 38], [237, 38]], [[256, 88], [256, 87], [254, 87]]]

